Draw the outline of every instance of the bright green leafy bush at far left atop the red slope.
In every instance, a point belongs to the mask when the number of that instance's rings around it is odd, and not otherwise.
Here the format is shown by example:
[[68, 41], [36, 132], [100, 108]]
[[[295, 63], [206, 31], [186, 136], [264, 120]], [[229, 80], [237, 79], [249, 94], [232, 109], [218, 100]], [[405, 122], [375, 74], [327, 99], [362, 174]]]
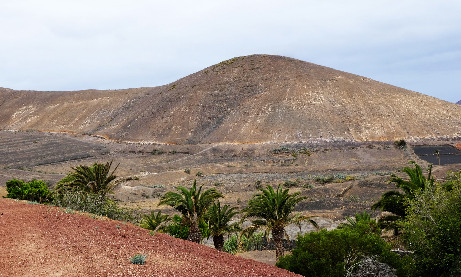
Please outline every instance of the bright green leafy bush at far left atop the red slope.
[[8, 192], [6, 197], [9, 198], [40, 202], [50, 193], [47, 184], [43, 181], [24, 183], [17, 179], [6, 182], [6, 191]]

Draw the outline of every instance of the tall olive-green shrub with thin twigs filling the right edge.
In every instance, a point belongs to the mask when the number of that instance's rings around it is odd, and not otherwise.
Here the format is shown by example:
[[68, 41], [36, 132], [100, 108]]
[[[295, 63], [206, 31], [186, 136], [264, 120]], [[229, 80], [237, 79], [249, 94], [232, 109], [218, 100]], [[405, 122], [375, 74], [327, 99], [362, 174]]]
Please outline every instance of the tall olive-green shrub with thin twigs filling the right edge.
[[461, 276], [461, 178], [455, 181], [450, 190], [428, 186], [404, 201], [403, 238], [414, 251], [414, 276]]

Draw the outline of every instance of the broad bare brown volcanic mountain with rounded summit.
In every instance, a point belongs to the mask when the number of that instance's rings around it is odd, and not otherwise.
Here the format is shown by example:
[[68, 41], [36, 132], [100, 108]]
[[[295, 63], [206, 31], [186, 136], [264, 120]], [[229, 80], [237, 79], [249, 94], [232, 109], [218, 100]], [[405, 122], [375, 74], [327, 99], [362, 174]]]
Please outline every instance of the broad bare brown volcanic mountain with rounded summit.
[[225, 60], [171, 84], [126, 90], [0, 88], [0, 128], [142, 143], [443, 139], [461, 106], [274, 55]]

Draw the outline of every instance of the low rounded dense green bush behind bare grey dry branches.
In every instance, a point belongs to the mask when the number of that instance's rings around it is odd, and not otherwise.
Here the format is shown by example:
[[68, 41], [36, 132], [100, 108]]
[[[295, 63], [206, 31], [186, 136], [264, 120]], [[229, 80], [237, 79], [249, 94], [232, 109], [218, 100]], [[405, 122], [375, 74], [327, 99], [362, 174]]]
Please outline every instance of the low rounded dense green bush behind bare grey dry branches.
[[366, 256], [379, 256], [379, 261], [397, 269], [399, 276], [403, 263], [400, 256], [390, 252], [390, 246], [371, 233], [366, 223], [357, 223], [356, 229], [334, 229], [298, 235], [296, 249], [280, 258], [278, 267], [307, 277], [345, 276], [344, 257], [351, 251]]

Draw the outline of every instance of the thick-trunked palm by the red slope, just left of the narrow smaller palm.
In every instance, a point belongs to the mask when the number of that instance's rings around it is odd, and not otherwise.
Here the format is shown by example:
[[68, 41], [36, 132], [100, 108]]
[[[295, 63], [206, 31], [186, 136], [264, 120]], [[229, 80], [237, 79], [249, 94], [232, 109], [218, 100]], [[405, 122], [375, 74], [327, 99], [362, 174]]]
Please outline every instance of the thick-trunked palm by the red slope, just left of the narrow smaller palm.
[[[194, 184], [187, 190], [183, 186], [177, 187], [176, 191], [179, 192], [167, 192], [160, 198], [160, 205], [169, 205], [183, 214], [183, 222], [190, 223], [189, 234], [187, 239], [200, 243], [202, 239], [201, 231], [198, 224], [203, 220], [203, 217], [207, 213], [207, 209], [211, 206], [216, 199], [224, 198], [222, 193], [219, 193], [215, 188], [209, 188], [203, 193], [201, 192], [203, 185], [197, 191], [196, 180]], [[172, 223], [172, 222], [170, 222]], [[156, 229], [167, 226], [169, 223], [159, 224]], [[174, 224], [174, 223], [173, 223]]]

